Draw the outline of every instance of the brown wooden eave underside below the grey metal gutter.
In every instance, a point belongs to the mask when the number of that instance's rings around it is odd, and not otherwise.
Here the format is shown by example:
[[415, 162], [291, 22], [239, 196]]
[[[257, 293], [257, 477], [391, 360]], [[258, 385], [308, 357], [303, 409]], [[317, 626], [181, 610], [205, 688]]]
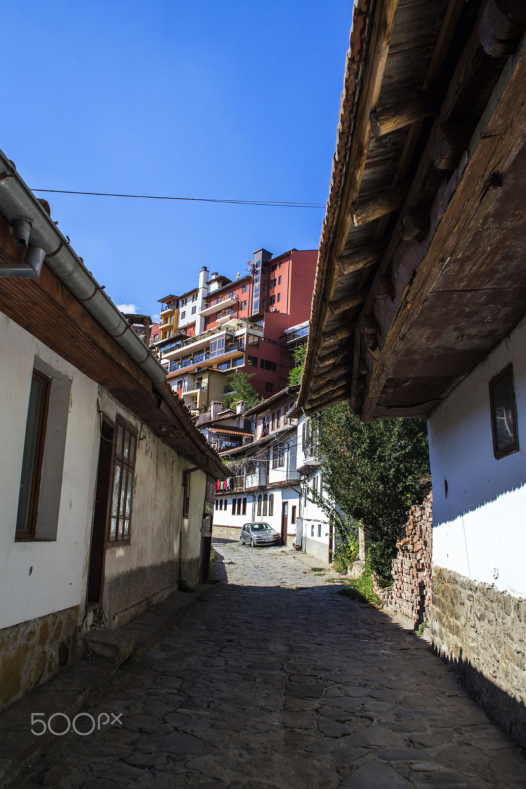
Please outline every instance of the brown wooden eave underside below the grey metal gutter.
[[[0, 257], [23, 257], [0, 216]], [[166, 383], [153, 384], [103, 327], [43, 265], [39, 279], [2, 278], [0, 310], [47, 347], [99, 383], [162, 441], [216, 478], [227, 469]]]

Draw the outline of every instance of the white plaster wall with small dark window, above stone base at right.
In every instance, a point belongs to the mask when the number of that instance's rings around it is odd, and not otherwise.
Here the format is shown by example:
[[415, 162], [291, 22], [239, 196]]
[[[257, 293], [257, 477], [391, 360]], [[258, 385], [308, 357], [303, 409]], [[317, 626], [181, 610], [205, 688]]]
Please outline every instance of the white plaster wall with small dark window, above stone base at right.
[[[520, 451], [495, 460], [488, 383], [510, 362]], [[433, 563], [526, 596], [526, 320], [431, 414], [428, 432]]]

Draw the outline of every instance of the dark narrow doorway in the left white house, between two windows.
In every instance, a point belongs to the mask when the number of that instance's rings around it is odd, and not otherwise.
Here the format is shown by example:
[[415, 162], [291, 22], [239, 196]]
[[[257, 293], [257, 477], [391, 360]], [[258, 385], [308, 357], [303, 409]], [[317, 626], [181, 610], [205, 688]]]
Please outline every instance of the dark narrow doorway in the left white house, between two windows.
[[104, 549], [106, 547], [106, 523], [108, 499], [110, 498], [111, 462], [114, 449], [114, 428], [106, 421], [101, 422], [99, 468], [95, 488], [95, 507], [91, 529], [91, 548], [88, 571], [88, 603], [100, 603], [103, 591]]

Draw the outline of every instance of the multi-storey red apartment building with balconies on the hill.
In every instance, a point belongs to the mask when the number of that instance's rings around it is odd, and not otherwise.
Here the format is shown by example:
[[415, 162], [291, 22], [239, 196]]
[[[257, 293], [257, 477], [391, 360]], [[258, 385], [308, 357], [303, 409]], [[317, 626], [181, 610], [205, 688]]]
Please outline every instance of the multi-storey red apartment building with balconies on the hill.
[[231, 282], [214, 272], [207, 280], [203, 267], [198, 287], [173, 301], [173, 334], [152, 344], [189, 406], [222, 399], [240, 369], [253, 374], [263, 397], [286, 386], [291, 357], [283, 340], [291, 327], [308, 323], [317, 255], [291, 249], [273, 258], [259, 249], [248, 275]]

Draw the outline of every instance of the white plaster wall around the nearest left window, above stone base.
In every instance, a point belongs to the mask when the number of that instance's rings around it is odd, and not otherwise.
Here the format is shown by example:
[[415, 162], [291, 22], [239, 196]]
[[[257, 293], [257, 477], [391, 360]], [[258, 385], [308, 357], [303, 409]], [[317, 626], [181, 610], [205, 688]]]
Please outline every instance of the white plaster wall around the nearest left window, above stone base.
[[[97, 384], [0, 313], [0, 628], [80, 605], [94, 499]], [[57, 539], [15, 542], [35, 356], [72, 380]], [[32, 572], [29, 570], [32, 567]]]

